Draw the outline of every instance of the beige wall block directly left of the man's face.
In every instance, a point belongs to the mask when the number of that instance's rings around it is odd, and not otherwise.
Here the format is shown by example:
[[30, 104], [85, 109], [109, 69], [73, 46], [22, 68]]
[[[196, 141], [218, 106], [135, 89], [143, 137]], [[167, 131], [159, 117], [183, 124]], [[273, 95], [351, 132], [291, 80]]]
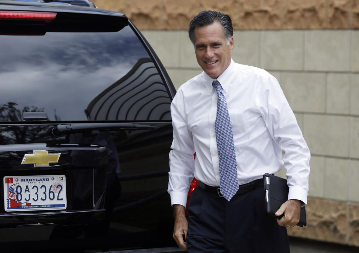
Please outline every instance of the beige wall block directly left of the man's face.
[[180, 51], [180, 66], [183, 68], [200, 68], [197, 63], [195, 48], [188, 37], [188, 32], [180, 32], [180, 43], [182, 50]]

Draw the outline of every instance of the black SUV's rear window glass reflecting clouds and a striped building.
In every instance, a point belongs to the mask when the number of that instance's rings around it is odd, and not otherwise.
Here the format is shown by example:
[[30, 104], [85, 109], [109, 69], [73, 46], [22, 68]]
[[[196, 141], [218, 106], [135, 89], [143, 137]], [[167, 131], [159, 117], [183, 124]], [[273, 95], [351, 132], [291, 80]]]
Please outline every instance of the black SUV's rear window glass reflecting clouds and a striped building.
[[118, 32], [1, 36], [0, 120], [169, 120], [170, 99], [130, 27]]

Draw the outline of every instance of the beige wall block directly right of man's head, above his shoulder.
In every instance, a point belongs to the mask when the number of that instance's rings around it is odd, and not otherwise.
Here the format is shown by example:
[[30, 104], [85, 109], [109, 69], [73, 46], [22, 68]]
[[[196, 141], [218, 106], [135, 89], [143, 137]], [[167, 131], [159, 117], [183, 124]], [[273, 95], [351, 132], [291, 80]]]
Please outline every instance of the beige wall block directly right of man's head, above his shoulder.
[[260, 32], [234, 31], [234, 49], [232, 59], [239, 64], [259, 66]]

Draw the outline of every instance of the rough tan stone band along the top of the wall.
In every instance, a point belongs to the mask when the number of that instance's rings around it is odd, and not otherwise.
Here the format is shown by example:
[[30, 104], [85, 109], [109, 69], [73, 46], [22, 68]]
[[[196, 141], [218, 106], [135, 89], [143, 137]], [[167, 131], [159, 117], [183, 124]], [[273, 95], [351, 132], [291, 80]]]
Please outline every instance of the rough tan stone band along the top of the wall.
[[234, 29], [358, 29], [359, 0], [92, 0], [139, 29], [187, 29], [201, 10], [232, 18]]

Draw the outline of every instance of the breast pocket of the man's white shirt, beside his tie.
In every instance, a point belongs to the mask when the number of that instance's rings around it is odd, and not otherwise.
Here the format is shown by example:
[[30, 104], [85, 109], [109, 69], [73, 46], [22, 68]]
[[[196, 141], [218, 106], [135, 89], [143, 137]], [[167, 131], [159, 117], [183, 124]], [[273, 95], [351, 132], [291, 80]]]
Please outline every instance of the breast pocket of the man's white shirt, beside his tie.
[[248, 113], [230, 113], [230, 122], [234, 141], [247, 140], [251, 138], [252, 128]]

